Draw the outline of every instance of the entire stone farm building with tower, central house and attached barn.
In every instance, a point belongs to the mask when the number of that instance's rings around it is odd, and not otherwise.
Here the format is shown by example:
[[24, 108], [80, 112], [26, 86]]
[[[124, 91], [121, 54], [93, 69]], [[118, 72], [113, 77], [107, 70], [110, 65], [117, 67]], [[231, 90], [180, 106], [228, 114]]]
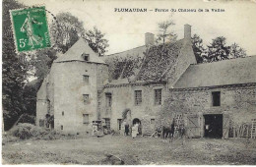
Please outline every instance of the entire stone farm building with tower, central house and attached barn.
[[118, 132], [126, 119], [149, 134], [174, 119], [191, 138], [225, 139], [256, 116], [255, 64], [256, 56], [197, 64], [189, 25], [183, 39], [155, 45], [148, 32], [145, 45], [103, 58], [79, 39], [41, 84], [36, 124], [76, 134], [103, 120]]

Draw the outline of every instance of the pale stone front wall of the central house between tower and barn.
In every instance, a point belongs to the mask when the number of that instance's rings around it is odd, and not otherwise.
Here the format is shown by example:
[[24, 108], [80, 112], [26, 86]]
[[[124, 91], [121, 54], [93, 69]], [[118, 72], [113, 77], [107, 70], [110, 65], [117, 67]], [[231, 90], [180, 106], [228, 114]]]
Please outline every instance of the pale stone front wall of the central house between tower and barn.
[[[155, 105], [155, 89], [161, 88], [161, 104], [165, 99], [165, 83], [149, 84], [124, 84], [106, 86], [99, 98], [101, 118], [110, 118], [112, 130], [118, 131], [117, 119], [122, 119], [122, 113], [125, 109], [131, 111], [131, 120], [138, 118], [142, 123], [143, 133], [155, 130], [155, 124], [151, 124], [151, 119], [157, 120], [162, 105]], [[135, 90], [142, 90], [142, 104], [135, 105]], [[112, 94], [111, 108], [106, 107], [105, 93]]]

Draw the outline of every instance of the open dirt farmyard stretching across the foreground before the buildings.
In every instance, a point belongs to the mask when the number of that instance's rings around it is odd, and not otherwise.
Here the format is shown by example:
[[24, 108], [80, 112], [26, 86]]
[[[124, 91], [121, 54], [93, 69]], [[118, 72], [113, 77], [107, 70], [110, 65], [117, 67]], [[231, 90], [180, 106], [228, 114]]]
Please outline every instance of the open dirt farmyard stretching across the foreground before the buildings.
[[125, 165], [256, 165], [256, 139], [185, 139], [183, 145], [182, 141], [122, 136], [30, 139], [4, 144], [2, 158], [4, 164], [92, 165], [113, 163], [106, 158], [113, 154]]

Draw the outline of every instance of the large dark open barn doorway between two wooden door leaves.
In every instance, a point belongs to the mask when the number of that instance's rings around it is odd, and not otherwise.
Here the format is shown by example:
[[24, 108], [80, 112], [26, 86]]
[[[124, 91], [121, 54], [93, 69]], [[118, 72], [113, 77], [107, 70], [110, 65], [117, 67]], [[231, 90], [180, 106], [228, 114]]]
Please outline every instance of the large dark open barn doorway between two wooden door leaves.
[[205, 138], [222, 139], [223, 114], [208, 114], [205, 118]]

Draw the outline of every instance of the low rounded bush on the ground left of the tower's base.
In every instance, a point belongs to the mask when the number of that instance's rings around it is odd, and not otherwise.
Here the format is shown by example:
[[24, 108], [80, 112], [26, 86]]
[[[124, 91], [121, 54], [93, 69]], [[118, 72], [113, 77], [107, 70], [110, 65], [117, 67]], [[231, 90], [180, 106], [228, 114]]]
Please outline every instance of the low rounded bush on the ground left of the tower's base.
[[18, 124], [12, 130], [10, 135], [18, 139], [60, 139], [61, 135], [57, 131], [49, 130], [32, 124]]

